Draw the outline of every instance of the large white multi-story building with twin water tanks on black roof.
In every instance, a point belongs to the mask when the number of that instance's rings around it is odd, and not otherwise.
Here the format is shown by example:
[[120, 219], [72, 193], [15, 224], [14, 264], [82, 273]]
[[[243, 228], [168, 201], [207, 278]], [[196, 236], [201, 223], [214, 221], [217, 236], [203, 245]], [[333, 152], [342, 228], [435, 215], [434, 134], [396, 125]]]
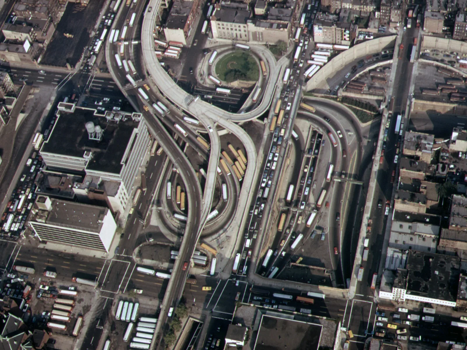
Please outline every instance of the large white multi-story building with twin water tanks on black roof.
[[49, 170], [85, 173], [73, 184], [77, 195], [94, 189], [106, 193], [113, 212], [123, 212], [149, 147], [150, 134], [140, 113], [106, 112], [58, 105], [57, 120], [40, 154]]

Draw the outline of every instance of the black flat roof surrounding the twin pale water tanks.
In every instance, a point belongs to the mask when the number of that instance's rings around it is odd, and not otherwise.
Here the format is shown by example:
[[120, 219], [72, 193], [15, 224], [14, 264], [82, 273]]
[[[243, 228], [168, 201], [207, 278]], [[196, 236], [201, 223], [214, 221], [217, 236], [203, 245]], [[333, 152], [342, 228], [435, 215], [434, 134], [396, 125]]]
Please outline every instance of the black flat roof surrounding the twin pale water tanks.
[[[119, 122], [108, 121], [102, 116], [94, 115], [94, 112], [95, 110], [79, 107], [73, 113], [60, 112], [41, 152], [79, 158], [85, 152], [92, 152], [87, 169], [120, 174], [123, 155], [139, 122], [131, 118], [123, 118]], [[89, 139], [85, 127], [85, 123], [89, 121], [102, 128], [102, 140]]]

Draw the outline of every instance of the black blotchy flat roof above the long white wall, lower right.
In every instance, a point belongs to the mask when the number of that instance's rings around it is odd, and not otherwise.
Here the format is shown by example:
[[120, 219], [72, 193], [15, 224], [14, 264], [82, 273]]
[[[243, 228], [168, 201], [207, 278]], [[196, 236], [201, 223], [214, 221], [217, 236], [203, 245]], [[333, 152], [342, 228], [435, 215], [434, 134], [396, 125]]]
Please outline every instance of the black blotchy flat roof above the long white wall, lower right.
[[407, 294], [456, 301], [460, 258], [410, 250], [407, 270]]

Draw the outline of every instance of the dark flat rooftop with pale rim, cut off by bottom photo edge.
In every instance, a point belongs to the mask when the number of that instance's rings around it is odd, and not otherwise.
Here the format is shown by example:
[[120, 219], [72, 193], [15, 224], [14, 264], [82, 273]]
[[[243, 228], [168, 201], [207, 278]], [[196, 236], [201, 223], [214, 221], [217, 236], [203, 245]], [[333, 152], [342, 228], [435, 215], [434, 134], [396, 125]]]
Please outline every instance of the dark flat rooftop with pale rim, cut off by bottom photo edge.
[[264, 315], [254, 350], [317, 350], [323, 326]]

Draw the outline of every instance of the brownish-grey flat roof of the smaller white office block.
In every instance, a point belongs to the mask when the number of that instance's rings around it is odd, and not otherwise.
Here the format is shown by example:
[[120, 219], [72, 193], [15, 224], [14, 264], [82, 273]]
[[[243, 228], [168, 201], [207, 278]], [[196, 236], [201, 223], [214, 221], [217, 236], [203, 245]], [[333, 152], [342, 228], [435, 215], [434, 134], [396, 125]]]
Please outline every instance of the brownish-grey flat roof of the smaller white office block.
[[103, 207], [53, 199], [46, 224], [99, 233], [107, 211]]

